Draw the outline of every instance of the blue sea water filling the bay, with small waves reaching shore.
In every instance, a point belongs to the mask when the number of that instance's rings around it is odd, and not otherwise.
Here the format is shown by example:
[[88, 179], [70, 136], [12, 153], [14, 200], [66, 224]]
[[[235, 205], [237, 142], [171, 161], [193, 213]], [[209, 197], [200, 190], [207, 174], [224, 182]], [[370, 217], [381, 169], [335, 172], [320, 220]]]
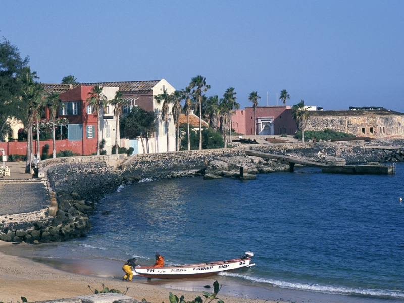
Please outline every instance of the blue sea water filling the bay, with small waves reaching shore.
[[[228, 279], [255, 286], [404, 300], [404, 164], [396, 175], [315, 168], [257, 180], [143, 180], [100, 201], [89, 236], [42, 249], [151, 265], [231, 259], [256, 266]], [[38, 245], [39, 246], [39, 245]], [[63, 252], [62, 252], [63, 251]]]

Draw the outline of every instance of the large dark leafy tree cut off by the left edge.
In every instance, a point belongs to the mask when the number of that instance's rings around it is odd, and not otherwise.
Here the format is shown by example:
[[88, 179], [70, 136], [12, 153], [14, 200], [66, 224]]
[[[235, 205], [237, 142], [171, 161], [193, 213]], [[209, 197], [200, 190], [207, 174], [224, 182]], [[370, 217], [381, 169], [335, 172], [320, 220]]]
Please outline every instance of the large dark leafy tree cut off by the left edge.
[[22, 83], [17, 78], [29, 62], [29, 57], [22, 59], [17, 46], [3, 38], [0, 43], [0, 142], [6, 136], [7, 119], [20, 112]]

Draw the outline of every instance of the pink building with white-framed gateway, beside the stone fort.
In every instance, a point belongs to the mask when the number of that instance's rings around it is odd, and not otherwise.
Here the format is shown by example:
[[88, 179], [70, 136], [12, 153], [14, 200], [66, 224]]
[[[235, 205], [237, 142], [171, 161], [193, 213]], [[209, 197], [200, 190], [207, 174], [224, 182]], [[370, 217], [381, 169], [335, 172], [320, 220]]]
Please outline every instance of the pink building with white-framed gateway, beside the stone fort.
[[254, 135], [254, 128], [256, 135], [294, 135], [297, 130], [290, 106], [258, 106], [255, 121], [254, 110], [246, 107], [235, 111], [232, 120], [235, 131], [245, 135]]

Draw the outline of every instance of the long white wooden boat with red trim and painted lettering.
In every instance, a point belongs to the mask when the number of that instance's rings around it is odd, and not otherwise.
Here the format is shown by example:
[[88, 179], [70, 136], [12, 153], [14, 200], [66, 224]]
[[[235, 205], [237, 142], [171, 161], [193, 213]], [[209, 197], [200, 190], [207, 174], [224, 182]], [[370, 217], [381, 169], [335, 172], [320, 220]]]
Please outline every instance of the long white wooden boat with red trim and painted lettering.
[[251, 261], [252, 256], [254, 254], [248, 251], [240, 258], [223, 261], [165, 267], [137, 266], [133, 269], [133, 275], [158, 279], [203, 278], [220, 272], [251, 267], [255, 265]]

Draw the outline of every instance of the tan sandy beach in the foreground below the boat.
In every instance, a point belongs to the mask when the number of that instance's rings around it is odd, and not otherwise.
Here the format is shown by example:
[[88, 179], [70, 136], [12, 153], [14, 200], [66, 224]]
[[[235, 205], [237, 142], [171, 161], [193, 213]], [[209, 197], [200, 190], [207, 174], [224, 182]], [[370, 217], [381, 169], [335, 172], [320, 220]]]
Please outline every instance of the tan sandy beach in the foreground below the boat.
[[[0, 248], [4, 248], [5, 245], [15, 244], [0, 242]], [[27, 244], [22, 243], [18, 245]], [[187, 291], [185, 289], [168, 289], [170, 284], [166, 283], [165, 287], [163, 287], [160, 285], [161, 282], [159, 280], [152, 280], [154, 283], [148, 283], [147, 279], [133, 279], [132, 283], [128, 283], [112, 277], [98, 277], [91, 274], [66, 272], [40, 262], [34, 262], [29, 258], [4, 253], [0, 253], [0, 258], [2, 260], [0, 263], [0, 300], [5, 303], [21, 301], [21, 296], [25, 296], [28, 301], [33, 302], [87, 295], [92, 294], [88, 285], [91, 286], [92, 290], [99, 290], [102, 288], [102, 284], [121, 291], [129, 287], [126, 295], [138, 300], [145, 298], [147, 301], [153, 303], [168, 302], [170, 291], [178, 296], [184, 295], [188, 300], [201, 296], [201, 292]], [[207, 289], [203, 288], [203, 286], [207, 284], [212, 285], [215, 280], [214, 277], [213, 279], [199, 281], [202, 283], [200, 288], [206, 291]], [[218, 280], [220, 279], [218, 278]], [[192, 281], [191, 283], [192, 287], [194, 287], [198, 281]], [[182, 284], [185, 285], [183, 288], [187, 288], [186, 284]], [[220, 298], [226, 303], [268, 302], [268, 300], [264, 299], [223, 295]]]

